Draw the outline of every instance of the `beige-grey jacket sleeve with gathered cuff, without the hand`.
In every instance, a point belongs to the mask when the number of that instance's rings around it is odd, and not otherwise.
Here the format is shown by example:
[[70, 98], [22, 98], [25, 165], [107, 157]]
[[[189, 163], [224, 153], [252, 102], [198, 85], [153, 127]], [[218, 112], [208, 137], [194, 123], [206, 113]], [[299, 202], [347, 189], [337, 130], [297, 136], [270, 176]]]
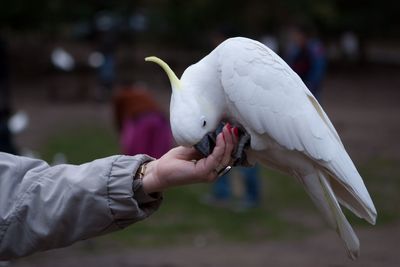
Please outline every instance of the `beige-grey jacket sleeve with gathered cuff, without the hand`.
[[68, 246], [143, 220], [160, 194], [132, 189], [145, 155], [50, 167], [0, 153], [0, 260]]

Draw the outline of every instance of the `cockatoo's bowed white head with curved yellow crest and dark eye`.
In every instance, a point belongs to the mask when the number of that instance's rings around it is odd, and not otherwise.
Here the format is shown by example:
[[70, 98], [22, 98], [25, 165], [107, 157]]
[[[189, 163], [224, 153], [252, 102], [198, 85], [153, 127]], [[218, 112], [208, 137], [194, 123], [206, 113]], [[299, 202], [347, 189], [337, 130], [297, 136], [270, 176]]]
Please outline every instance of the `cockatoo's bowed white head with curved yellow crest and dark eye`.
[[[171, 82], [170, 123], [172, 134], [178, 145], [193, 146], [209, 132], [214, 131], [220, 121], [219, 112], [212, 105], [212, 99], [202, 92], [205, 84], [195, 78], [195, 73], [176, 77], [171, 68], [157, 57], [147, 57], [160, 65]], [[188, 69], [189, 70], [189, 69]], [[185, 72], [188, 72], [186, 70]], [[190, 71], [189, 71], [190, 72]]]

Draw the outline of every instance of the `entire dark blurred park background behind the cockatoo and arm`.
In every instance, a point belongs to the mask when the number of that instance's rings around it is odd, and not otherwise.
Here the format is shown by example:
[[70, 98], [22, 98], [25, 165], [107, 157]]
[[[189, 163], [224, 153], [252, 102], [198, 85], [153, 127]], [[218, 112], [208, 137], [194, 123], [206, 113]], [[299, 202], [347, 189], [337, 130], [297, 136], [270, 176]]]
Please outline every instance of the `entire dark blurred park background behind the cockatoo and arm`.
[[159, 145], [145, 152], [160, 155], [173, 146], [170, 85], [144, 57], [164, 59], [179, 77], [225, 38], [245, 36], [283, 57], [317, 96], [378, 221], [348, 214], [361, 242], [353, 263], [302, 187], [259, 168], [229, 177], [228, 201], [210, 185], [174, 189], [145, 222], [0, 266], [398, 266], [399, 10], [398, 1], [370, 0], [1, 1], [0, 150], [79, 164], [141, 152], [134, 140], [150, 131], [161, 133], [148, 138]]

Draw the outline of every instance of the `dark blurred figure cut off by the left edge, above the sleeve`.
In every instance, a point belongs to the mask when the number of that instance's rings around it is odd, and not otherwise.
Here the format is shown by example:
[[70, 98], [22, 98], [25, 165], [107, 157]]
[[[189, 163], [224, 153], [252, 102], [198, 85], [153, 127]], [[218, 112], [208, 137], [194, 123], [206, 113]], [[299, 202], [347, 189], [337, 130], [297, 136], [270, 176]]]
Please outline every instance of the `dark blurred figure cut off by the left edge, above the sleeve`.
[[0, 151], [17, 154], [8, 127], [12, 108], [9, 88], [9, 66], [6, 41], [0, 36]]

